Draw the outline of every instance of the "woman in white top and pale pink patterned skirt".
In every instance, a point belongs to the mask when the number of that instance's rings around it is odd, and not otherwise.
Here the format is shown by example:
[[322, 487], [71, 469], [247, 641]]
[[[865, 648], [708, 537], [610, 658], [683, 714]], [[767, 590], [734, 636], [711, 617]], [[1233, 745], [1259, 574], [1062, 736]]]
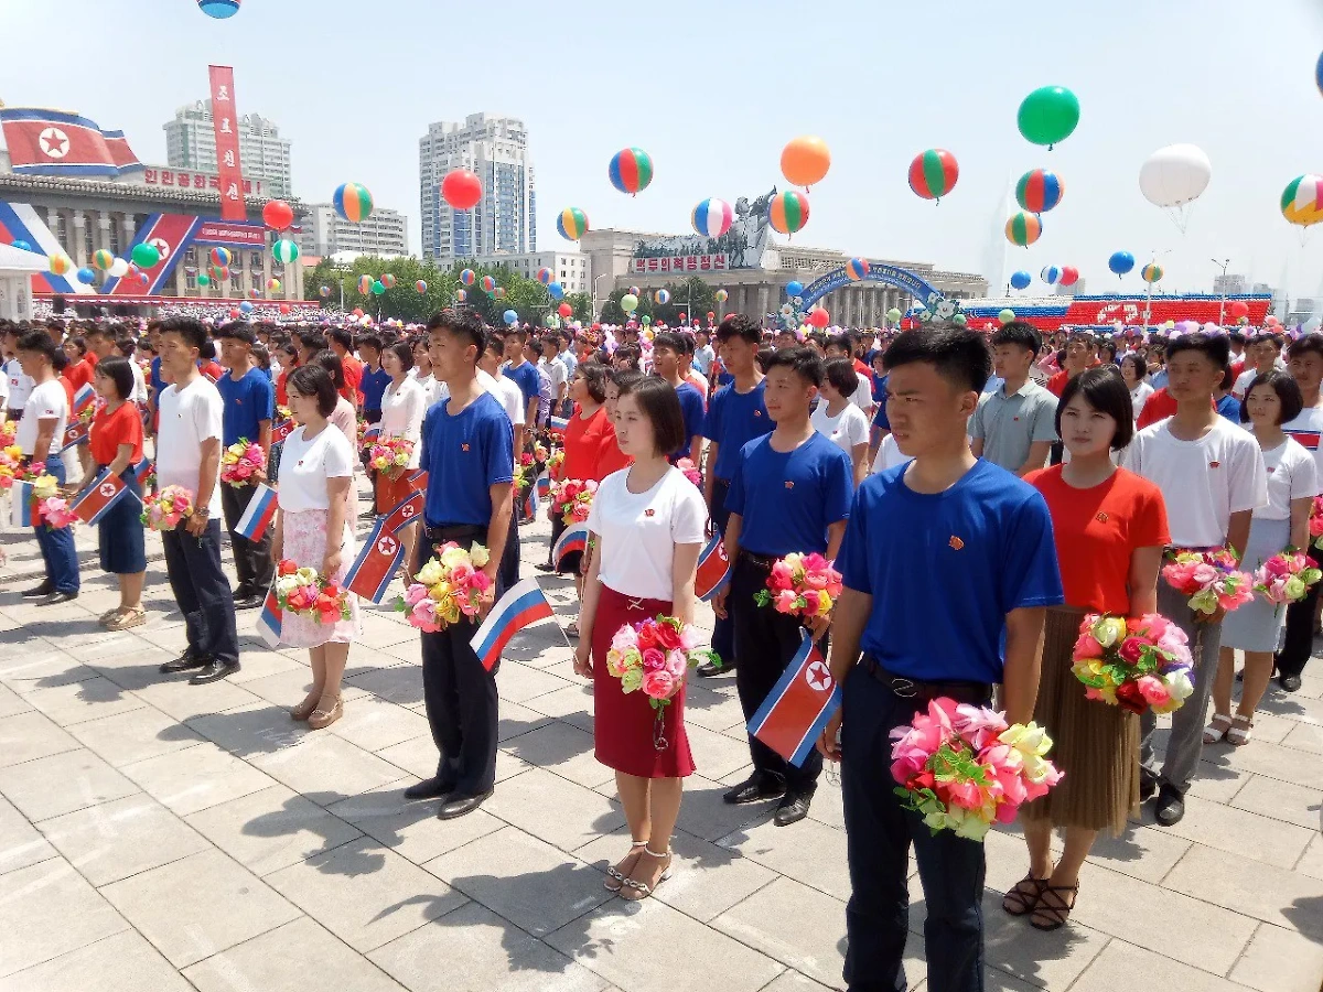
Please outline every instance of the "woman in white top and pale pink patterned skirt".
[[[284, 440], [274, 557], [316, 569], [321, 578], [339, 583], [357, 550], [348, 524], [353, 446], [328, 419], [341, 397], [318, 362], [290, 373], [287, 390], [290, 410], [302, 426]], [[324, 624], [286, 611], [280, 622], [280, 640], [308, 648], [312, 663], [312, 692], [290, 716], [308, 721], [315, 730], [344, 716], [340, 680], [349, 659], [349, 641], [359, 634], [359, 598], [348, 591], [344, 595], [349, 602], [348, 620]]]

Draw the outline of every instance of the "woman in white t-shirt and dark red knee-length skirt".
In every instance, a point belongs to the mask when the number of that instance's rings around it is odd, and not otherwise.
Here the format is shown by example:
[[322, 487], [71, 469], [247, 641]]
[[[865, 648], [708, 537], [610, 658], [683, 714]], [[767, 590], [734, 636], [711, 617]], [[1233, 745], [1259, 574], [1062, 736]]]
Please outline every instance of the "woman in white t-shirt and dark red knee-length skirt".
[[693, 774], [684, 733], [684, 682], [662, 710], [662, 733], [643, 692], [624, 693], [606, 667], [615, 632], [658, 615], [693, 619], [693, 578], [708, 511], [699, 489], [671, 466], [684, 443], [675, 389], [659, 378], [620, 386], [615, 409], [620, 450], [634, 458], [598, 487], [587, 525], [594, 553], [579, 615], [574, 671], [593, 679], [597, 759], [615, 768], [630, 824], [630, 852], [609, 869], [606, 888], [642, 899], [671, 874], [671, 832], [681, 779]]

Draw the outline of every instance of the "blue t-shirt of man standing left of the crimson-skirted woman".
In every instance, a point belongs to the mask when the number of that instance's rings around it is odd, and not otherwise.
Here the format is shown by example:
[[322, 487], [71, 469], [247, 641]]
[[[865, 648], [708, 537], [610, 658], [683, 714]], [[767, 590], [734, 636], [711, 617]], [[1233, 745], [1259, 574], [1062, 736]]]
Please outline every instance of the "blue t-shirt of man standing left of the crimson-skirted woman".
[[423, 517], [429, 526], [486, 526], [492, 518], [491, 487], [515, 477], [515, 430], [491, 393], [454, 417], [448, 406], [448, 398], [433, 403], [422, 422]]

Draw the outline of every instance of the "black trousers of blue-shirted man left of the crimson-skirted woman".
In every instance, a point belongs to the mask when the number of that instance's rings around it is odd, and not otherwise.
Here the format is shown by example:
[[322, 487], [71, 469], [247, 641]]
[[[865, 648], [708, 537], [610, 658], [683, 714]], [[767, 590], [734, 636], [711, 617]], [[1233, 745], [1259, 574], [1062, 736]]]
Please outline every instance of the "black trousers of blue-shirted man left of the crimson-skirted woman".
[[[415, 571], [433, 556], [433, 545], [443, 541], [472, 548], [487, 542], [487, 529], [427, 528], [418, 542]], [[503, 591], [497, 577], [497, 599]], [[437, 778], [462, 796], [490, 792], [496, 783], [496, 679], [470, 644], [478, 627], [460, 619], [438, 634], [422, 635], [422, 694], [431, 739], [441, 751]]]

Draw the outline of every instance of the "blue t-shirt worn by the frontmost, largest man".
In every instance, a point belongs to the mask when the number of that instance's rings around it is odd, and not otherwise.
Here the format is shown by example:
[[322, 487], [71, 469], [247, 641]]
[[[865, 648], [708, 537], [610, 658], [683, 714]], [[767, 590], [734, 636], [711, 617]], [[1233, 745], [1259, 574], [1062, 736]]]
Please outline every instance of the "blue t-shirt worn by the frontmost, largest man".
[[836, 557], [873, 598], [860, 645], [909, 679], [1000, 682], [1005, 615], [1065, 602], [1048, 504], [982, 459], [934, 495], [905, 485], [905, 470], [863, 481]]

